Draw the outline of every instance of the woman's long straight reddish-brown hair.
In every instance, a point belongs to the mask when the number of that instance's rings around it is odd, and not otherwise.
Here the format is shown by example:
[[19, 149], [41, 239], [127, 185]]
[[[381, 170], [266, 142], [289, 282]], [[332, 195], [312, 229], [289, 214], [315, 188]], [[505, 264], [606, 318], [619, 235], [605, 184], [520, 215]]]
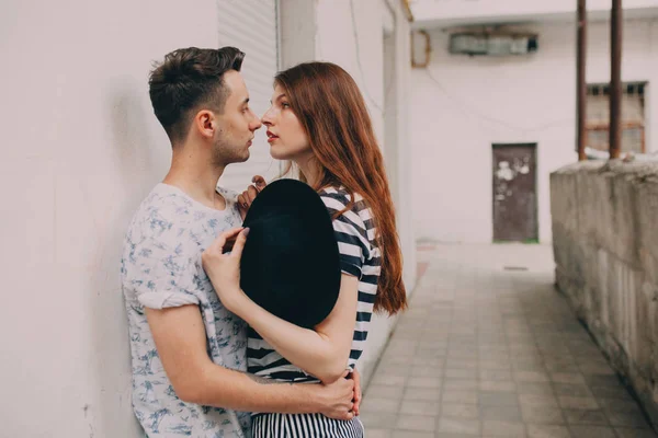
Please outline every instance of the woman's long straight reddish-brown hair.
[[354, 193], [363, 196], [373, 211], [382, 253], [375, 311], [395, 314], [404, 310], [407, 291], [395, 208], [384, 159], [356, 83], [345, 70], [330, 62], [300, 64], [276, 74], [274, 83], [284, 89], [318, 161], [320, 177], [314, 188], [347, 188], [351, 201], [336, 216], [352, 208]]

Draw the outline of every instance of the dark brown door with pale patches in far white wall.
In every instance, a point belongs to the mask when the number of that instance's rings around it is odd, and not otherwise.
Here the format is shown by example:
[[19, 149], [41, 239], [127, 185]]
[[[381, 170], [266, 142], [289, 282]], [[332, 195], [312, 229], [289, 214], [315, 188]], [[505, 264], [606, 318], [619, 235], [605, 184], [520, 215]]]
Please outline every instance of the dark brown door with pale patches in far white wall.
[[536, 143], [494, 145], [494, 241], [538, 239]]

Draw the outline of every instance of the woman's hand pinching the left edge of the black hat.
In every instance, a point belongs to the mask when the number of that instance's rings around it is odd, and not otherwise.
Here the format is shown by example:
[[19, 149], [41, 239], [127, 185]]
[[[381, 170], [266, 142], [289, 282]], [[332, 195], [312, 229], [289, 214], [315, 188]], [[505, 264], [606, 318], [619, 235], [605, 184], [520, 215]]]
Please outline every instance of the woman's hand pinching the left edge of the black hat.
[[[240, 300], [247, 298], [240, 289], [240, 257], [248, 233], [248, 228], [234, 228], [225, 231], [201, 255], [203, 268], [213, 283], [215, 292], [224, 307], [234, 313], [237, 313], [236, 309], [239, 307]], [[225, 253], [226, 242], [234, 239], [236, 242], [232, 251]]]

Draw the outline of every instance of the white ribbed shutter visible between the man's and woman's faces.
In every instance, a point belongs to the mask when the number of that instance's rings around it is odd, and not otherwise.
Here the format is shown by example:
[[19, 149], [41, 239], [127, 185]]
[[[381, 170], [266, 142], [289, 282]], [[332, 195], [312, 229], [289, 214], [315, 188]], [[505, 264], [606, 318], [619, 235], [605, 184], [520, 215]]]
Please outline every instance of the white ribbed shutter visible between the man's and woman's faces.
[[[279, 70], [279, 2], [275, 0], [218, 1], [218, 46], [245, 53], [241, 74], [249, 90], [249, 105], [261, 117], [270, 107], [274, 74]], [[254, 174], [271, 181], [281, 173], [281, 162], [270, 155], [266, 129], [256, 131], [250, 157], [226, 168], [219, 184], [242, 192]]]

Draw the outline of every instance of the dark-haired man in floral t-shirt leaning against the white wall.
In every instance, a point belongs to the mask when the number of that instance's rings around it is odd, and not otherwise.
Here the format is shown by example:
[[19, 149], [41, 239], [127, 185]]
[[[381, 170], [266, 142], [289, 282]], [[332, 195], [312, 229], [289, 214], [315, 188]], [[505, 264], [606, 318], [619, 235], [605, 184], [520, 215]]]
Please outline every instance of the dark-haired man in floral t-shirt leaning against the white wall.
[[249, 158], [261, 126], [239, 73], [243, 56], [232, 47], [179, 49], [149, 80], [172, 162], [133, 218], [121, 269], [133, 406], [149, 437], [248, 436], [250, 411], [353, 415], [351, 380], [285, 384], [246, 373], [245, 323], [202, 268], [204, 249], [241, 224], [235, 200], [216, 186], [226, 165]]

